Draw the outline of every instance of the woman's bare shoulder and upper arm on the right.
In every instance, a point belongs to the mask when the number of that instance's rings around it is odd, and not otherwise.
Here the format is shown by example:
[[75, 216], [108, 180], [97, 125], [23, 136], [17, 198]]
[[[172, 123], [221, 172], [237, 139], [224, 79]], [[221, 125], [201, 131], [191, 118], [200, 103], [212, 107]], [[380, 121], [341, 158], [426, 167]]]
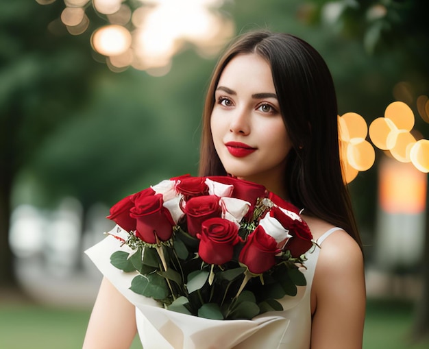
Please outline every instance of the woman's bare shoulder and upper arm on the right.
[[311, 349], [361, 349], [365, 322], [363, 254], [342, 230], [321, 245], [313, 281]]

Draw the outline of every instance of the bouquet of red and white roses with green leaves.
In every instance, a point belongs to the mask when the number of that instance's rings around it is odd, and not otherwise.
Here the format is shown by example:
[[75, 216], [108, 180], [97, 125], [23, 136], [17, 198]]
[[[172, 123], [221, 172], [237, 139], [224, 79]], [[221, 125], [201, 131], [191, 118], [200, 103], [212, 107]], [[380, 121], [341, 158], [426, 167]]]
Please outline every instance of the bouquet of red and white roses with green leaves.
[[312, 234], [299, 210], [264, 186], [230, 176], [180, 176], [110, 209], [130, 247], [110, 263], [137, 272], [130, 289], [166, 309], [215, 320], [280, 311], [306, 285]]

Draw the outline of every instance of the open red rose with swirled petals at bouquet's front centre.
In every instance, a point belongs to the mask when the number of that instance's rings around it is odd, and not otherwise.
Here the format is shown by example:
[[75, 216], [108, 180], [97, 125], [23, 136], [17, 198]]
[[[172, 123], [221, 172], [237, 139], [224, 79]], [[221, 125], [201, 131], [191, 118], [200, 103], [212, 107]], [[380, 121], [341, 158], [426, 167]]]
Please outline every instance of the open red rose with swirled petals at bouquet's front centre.
[[204, 221], [197, 237], [201, 240], [198, 248], [200, 258], [208, 264], [218, 265], [231, 261], [234, 245], [241, 241], [238, 226], [219, 217]]

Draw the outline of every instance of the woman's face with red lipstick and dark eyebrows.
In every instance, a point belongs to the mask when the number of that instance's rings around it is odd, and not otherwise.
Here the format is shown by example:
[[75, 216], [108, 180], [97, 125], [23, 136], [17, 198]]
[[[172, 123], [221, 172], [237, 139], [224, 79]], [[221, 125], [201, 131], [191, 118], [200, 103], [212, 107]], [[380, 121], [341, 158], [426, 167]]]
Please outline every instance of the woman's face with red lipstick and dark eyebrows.
[[228, 63], [215, 91], [210, 126], [227, 173], [279, 188], [292, 145], [263, 58], [249, 53]]

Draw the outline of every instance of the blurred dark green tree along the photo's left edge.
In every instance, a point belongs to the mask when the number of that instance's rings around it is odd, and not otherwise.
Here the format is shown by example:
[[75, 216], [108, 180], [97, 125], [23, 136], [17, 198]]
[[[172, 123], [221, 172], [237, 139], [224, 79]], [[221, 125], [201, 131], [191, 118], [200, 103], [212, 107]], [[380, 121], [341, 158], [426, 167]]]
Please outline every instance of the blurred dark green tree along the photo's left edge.
[[99, 66], [87, 40], [56, 26], [61, 11], [61, 3], [0, 3], [1, 285], [14, 283], [8, 230], [16, 175], [70, 116], [69, 108], [84, 101]]

